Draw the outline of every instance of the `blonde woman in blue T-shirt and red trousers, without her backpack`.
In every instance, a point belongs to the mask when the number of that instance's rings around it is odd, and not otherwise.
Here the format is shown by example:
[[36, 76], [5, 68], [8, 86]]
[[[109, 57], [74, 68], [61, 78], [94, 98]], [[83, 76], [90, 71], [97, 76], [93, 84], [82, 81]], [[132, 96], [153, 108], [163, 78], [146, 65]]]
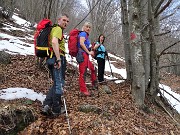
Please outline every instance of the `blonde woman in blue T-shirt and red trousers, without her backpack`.
[[94, 54], [93, 51], [90, 50], [90, 40], [89, 40], [89, 34], [91, 30], [91, 24], [89, 22], [85, 22], [82, 27], [82, 32], [78, 35], [78, 48], [79, 51], [81, 51], [83, 55], [83, 62], [79, 63], [79, 87], [80, 92], [85, 96], [90, 96], [89, 91], [87, 90], [86, 84], [85, 84], [85, 78], [86, 78], [86, 72], [87, 68], [91, 71], [91, 83], [93, 86], [96, 85], [96, 73], [95, 68], [92, 62], [89, 60], [89, 55]]

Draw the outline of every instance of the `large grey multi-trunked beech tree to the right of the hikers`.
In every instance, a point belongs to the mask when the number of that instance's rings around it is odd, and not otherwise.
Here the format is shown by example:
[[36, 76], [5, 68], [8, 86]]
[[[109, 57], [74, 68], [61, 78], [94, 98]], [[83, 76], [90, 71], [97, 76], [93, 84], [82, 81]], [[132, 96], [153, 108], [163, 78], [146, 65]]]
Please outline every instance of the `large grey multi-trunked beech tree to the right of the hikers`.
[[171, 4], [172, 0], [121, 0], [127, 79], [131, 81], [135, 102], [142, 109], [146, 108], [145, 93], [154, 100], [159, 92], [159, 58], [164, 50], [157, 52], [156, 35], [162, 35], [160, 16]]

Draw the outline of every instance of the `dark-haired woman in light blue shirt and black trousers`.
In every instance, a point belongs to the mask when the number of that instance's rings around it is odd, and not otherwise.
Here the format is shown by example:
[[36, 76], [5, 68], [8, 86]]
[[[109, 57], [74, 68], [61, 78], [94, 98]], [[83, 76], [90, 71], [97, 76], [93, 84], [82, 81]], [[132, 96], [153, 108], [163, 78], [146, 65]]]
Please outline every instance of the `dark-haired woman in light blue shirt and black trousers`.
[[105, 70], [105, 56], [106, 49], [103, 45], [105, 36], [103, 34], [99, 35], [98, 42], [95, 43], [94, 50], [97, 50], [97, 63], [98, 63], [98, 81], [104, 81], [104, 70]]

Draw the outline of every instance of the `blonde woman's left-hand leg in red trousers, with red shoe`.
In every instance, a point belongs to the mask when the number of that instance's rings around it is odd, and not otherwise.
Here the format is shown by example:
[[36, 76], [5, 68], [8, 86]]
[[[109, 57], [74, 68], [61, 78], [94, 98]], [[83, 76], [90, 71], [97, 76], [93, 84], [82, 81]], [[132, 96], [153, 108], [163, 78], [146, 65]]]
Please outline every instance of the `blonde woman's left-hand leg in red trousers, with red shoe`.
[[80, 92], [84, 93], [85, 95], [89, 95], [89, 92], [86, 88], [85, 78], [86, 78], [86, 70], [87, 70], [87, 62], [88, 62], [88, 55], [83, 53], [84, 61], [79, 64], [79, 87]]

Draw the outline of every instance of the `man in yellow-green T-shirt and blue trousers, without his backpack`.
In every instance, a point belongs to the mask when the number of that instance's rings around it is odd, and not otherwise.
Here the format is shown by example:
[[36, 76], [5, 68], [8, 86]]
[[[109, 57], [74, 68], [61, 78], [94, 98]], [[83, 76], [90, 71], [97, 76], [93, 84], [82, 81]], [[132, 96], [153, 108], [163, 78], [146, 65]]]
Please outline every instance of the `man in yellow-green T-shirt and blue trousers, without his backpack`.
[[53, 27], [50, 33], [50, 45], [53, 48], [53, 57], [47, 58], [47, 66], [50, 70], [53, 80], [53, 86], [49, 90], [43, 102], [42, 112], [44, 114], [51, 113], [58, 116], [62, 113], [61, 95], [63, 94], [63, 78], [62, 67], [64, 63], [61, 62], [62, 56], [65, 54], [65, 40], [63, 37], [63, 30], [67, 27], [69, 18], [66, 14], [58, 19], [58, 25]]

